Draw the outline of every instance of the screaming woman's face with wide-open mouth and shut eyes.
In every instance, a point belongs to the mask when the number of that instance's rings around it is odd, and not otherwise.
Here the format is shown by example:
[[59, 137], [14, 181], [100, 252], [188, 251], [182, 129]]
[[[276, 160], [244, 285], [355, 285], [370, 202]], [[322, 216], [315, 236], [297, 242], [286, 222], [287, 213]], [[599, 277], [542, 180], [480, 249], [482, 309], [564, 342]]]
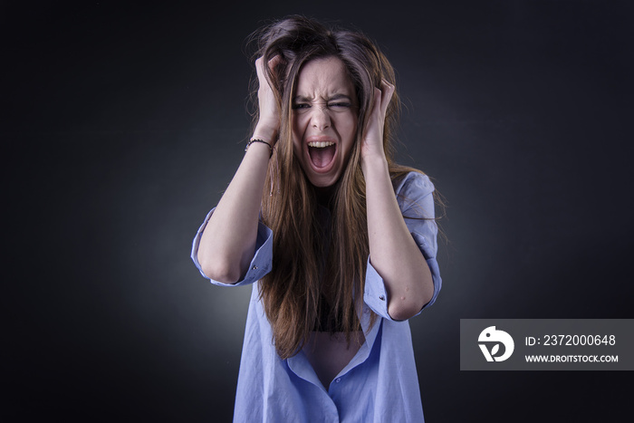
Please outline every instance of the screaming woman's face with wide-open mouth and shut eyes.
[[357, 135], [357, 96], [340, 59], [303, 64], [293, 97], [293, 151], [315, 187], [331, 187]]

